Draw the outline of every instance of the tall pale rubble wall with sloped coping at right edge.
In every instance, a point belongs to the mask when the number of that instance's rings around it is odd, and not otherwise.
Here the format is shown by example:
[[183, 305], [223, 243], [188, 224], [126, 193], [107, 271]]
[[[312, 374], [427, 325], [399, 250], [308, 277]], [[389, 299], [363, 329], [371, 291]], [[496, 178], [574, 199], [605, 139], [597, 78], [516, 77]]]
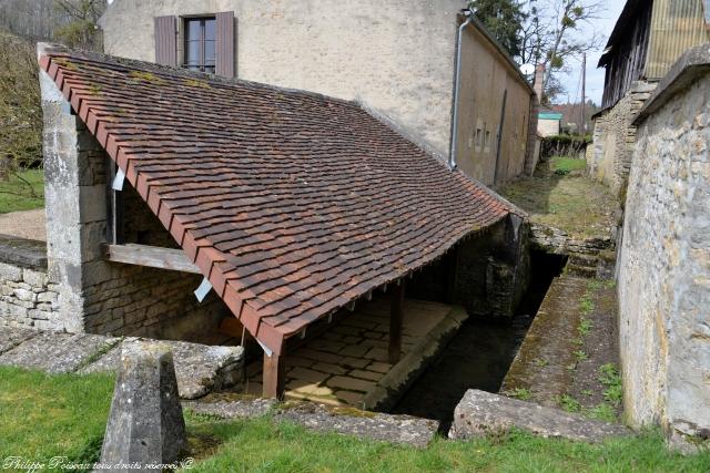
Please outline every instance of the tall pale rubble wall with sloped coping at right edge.
[[637, 121], [619, 256], [625, 411], [683, 446], [710, 436], [709, 61], [681, 59]]

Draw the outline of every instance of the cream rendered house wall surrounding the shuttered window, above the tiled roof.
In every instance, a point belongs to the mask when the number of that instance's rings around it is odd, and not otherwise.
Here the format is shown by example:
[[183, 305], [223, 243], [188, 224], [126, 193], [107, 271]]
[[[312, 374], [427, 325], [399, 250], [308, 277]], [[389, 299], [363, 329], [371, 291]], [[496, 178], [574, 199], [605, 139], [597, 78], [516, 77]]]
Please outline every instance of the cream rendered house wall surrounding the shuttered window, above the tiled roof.
[[456, 13], [465, 6], [116, 0], [101, 24], [105, 52], [154, 61], [154, 17], [234, 11], [239, 78], [359, 100], [448, 156]]

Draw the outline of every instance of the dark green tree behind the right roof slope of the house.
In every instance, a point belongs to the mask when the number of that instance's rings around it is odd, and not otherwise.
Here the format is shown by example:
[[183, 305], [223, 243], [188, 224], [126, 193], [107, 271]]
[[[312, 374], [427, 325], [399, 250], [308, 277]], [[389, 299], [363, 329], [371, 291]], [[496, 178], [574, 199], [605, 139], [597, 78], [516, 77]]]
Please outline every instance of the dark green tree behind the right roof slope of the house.
[[518, 0], [471, 0], [470, 8], [511, 56], [521, 53], [519, 31], [526, 14]]

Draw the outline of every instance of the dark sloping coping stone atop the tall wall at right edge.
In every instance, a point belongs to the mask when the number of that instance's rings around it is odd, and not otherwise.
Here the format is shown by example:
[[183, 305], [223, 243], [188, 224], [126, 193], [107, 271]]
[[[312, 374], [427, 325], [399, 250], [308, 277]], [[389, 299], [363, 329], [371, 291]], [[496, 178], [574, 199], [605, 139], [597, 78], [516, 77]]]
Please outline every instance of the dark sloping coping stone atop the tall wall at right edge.
[[688, 50], [661, 79], [656, 91], [633, 120], [633, 125], [639, 126], [678, 92], [692, 85], [699, 76], [708, 73], [710, 73], [710, 43]]

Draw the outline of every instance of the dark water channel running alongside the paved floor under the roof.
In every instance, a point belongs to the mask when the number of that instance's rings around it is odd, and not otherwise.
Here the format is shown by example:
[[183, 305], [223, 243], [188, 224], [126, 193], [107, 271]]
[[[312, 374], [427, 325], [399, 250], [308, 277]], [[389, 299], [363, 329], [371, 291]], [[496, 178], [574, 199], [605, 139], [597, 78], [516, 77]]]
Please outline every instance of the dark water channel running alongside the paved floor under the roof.
[[468, 389], [498, 392], [552, 279], [567, 257], [531, 253], [531, 278], [517, 313], [508, 323], [469, 318], [442, 354], [392, 410], [440, 422], [446, 433], [454, 409]]

